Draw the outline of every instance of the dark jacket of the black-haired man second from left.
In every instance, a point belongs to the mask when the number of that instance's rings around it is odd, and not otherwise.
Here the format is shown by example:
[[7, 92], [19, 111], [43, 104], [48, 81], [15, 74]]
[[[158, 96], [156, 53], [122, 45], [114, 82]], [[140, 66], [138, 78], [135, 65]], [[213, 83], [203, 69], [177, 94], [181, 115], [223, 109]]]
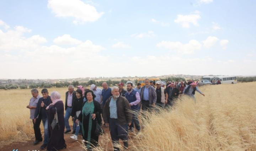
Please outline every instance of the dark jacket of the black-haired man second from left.
[[[44, 102], [44, 107], [41, 107], [42, 101]], [[48, 96], [46, 99], [43, 99], [43, 97], [38, 99], [36, 111], [34, 114], [34, 119], [41, 118], [46, 119], [48, 118], [48, 111], [46, 110], [46, 107], [52, 103], [52, 100], [50, 99], [50, 96]], [[37, 117], [38, 116], [38, 117]]]

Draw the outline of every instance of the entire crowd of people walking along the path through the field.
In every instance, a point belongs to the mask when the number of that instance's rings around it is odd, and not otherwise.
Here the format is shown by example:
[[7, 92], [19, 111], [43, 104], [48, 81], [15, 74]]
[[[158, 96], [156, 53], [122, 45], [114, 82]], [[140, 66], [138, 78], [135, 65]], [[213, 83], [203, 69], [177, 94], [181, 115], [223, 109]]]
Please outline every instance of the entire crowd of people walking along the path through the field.
[[[69, 124], [71, 117], [73, 135], [70, 139], [77, 141], [78, 135], [81, 134], [88, 150], [98, 146], [100, 126], [109, 128], [115, 150], [120, 150], [119, 139], [123, 141], [124, 148], [128, 148], [128, 132], [134, 132], [136, 129], [136, 133], [139, 133], [143, 129], [143, 125], [140, 125], [139, 113], [143, 116], [143, 113], [157, 108], [170, 108], [180, 95], [192, 97], [194, 101], [196, 91], [204, 96], [199, 91], [197, 83], [192, 80], [169, 81], [166, 87], [161, 81], [156, 82], [156, 87], [149, 79], [145, 79], [144, 83], [144, 86], [137, 83], [134, 87], [133, 83], [128, 82], [126, 90], [122, 82], [118, 87], [111, 88], [103, 82], [102, 90], [95, 84], [92, 84], [90, 89], [78, 86], [77, 90], [74, 90], [73, 85], [69, 85], [65, 93], [65, 104], [57, 91], [49, 96], [48, 90], [43, 88], [41, 91], [43, 97], [40, 97], [38, 90], [33, 88], [32, 98], [27, 106], [30, 109], [36, 139], [33, 144], [43, 141], [40, 149], [48, 151], [66, 148], [64, 134], [71, 132]], [[41, 121], [44, 127], [44, 140], [39, 127]]]

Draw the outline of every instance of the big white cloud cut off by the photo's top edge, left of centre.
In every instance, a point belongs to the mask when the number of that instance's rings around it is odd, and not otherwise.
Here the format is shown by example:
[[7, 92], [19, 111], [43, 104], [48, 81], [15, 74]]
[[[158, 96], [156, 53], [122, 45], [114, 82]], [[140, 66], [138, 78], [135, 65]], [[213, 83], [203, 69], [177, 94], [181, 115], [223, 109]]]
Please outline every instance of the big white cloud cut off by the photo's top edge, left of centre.
[[48, 0], [47, 6], [57, 17], [74, 17], [75, 24], [95, 22], [104, 14], [81, 0]]

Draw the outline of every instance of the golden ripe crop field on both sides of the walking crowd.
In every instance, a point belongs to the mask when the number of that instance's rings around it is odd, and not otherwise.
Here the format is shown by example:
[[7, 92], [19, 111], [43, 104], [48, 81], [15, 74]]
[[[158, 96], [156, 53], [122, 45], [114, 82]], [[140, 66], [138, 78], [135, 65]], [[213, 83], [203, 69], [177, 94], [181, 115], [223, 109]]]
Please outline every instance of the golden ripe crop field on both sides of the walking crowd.
[[[64, 99], [66, 89], [49, 91]], [[129, 140], [129, 150], [255, 151], [256, 82], [199, 89], [206, 96], [196, 92], [196, 103], [183, 97], [170, 111], [150, 114], [142, 133]], [[30, 90], [0, 91], [0, 144], [34, 139], [30, 98]]]

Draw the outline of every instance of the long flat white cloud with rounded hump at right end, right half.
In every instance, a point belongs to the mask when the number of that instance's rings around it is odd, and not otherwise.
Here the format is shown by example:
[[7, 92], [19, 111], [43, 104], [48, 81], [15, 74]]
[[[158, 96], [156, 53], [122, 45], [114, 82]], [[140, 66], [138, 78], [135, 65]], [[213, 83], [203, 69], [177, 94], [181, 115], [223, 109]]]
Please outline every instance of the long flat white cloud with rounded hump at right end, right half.
[[186, 44], [182, 44], [181, 42], [162, 41], [157, 44], [157, 47], [164, 47], [184, 54], [192, 54], [195, 50], [200, 50], [202, 45], [196, 40], [190, 40]]

